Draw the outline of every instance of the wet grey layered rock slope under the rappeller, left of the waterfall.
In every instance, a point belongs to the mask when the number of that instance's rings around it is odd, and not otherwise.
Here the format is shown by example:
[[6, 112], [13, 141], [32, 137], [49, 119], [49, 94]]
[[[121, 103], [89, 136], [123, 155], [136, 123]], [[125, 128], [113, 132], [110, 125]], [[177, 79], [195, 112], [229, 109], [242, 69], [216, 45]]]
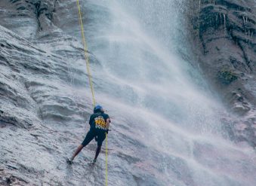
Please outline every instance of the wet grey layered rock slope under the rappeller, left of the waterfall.
[[[92, 108], [84, 50], [74, 37], [80, 36], [76, 1], [5, 0], [0, 17], [0, 184], [103, 185], [104, 147], [93, 167], [95, 142], [66, 164], [85, 137]], [[109, 139], [109, 185], [167, 185], [153, 176], [162, 169], [150, 156], [140, 159], [154, 152], [132, 137], [128, 122]]]

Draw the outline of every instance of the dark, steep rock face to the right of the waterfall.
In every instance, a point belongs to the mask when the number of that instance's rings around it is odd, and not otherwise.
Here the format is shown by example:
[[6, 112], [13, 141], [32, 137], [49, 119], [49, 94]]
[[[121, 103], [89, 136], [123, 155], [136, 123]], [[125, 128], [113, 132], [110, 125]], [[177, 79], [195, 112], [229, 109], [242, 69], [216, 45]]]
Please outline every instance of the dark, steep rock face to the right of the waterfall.
[[[190, 4], [190, 31], [199, 65], [236, 115], [230, 137], [256, 146], [256, 2], [219, 0]], [[236, 118], [236, 119], [235, 119]]]

